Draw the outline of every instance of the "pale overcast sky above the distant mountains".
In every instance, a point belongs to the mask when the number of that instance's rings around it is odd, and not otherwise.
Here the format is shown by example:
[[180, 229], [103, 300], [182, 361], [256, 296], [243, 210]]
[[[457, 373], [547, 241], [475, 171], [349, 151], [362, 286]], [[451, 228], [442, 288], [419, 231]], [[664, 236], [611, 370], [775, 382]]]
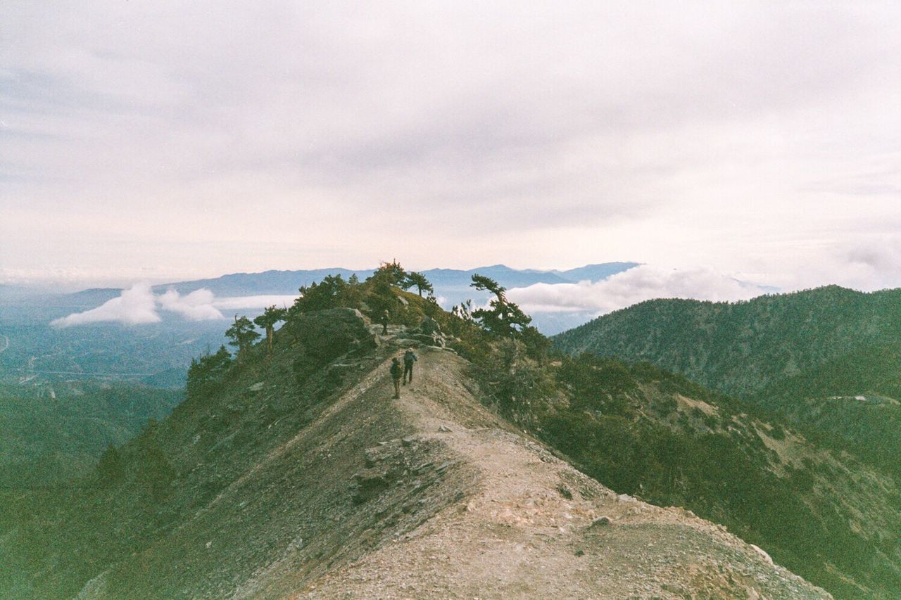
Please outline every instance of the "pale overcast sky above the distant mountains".
[[5, 0], [0, 281], [901, 286], [899, 5], [676, 5]]

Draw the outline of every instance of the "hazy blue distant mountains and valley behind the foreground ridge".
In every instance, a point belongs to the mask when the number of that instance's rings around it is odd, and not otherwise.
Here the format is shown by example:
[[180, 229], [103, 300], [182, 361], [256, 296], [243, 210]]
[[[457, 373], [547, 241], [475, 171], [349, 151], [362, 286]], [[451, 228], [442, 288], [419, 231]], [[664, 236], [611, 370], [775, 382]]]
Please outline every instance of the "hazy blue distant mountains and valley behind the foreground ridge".
[[[534, 283], [571, 282], [609, 277], [638, 263], [613, 262], [564, 271], [517, 270], [503, 265], [467, 270], [437, 268], [425, 271], [445, 308], [466, 299], [487, 301], [487, 293], [469, 286], [474, 273], [496, 278], [507, 287]], [[157, 294], [174, 289], [187, 295], [205, 288], [220, 298], [252, 295], [298, 295], [300, 286], [309, 286], [327, 275], [359, 279], [372, 275], [371, 269], [321, 268], [263, 273], [233, 273], [211, 279], [174, 282], [154, 286]], [[214, 351], [226, 340], [222, 321], [189, 321], [180, 315], [160, 312], [159, 323], [123, 325], [89, 323], [77, 327], [52, 328], [49, 323], [68, 314], [95, 309], [122, 295], [120, 288], [91, 288], [71, 294], [52, 294], [24, 287], [0, 286], [0, 382], [43, 385], [71, 378], [126, 380], [151, 386], [182, 386], [190, 360]], [[259, 304], [259, 303], [258, 303]], [[224, 311], [253, 318], [262, 307]], [[587, 316], [541, 314], [535, 322], [560, 331]], [[576, 321], [573, 321], [575, 319]]]

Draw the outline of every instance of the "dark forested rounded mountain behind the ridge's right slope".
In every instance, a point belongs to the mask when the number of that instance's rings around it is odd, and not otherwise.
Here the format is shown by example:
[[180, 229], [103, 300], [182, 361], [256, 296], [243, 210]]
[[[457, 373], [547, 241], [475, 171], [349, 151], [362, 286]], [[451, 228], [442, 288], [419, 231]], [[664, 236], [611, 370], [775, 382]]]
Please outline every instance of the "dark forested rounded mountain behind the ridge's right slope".
[[[827, 286], [739, 303], [650, 300], [560, 333], [554, 343], [570, 353], [649, 360], [705, 386], [751, 397], [843, 357], [873, 349], [896, 355], [901, 289], [865, 294]], [[817, 392], [878, 392], [872, 385], [893, 376], [872, 366], [866, 361], [855, 370], [851, 361], [841, 386]]]

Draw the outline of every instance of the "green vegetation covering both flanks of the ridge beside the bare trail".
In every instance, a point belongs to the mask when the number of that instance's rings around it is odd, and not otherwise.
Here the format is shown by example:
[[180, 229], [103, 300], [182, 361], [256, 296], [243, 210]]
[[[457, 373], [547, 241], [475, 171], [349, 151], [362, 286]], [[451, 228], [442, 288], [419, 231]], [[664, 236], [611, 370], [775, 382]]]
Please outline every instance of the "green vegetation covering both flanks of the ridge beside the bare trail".
[[[484, 404], [616, 492], [723, 523], [834, 595], [901, 589], [901, 495], [891, 475], [817, 445], [793, 421], [651, 363], [552, 350], [488, 277], [473, 277], [476, 289], [492, 295], [486, 306], [448, 312], [421, 296], [429, 285], [416, 275], [392, 261], [365, 281], [335, 276], [305, 286], [294, 305], [259, 323], [236, 315], [235, 356], [223, 346], [195, 359], [186, 401], [168, 421], [107, 448], [86, 480], [88, 493], [61, 503], [10, 501], [25, 515], [15, 532], [24, 551], [15, 558], [19, 570], [0, 571], [0, 584], [32, 586], [16, 573], [44, 572], [50, 557], [42, 549], [81, 549], [77, 558], [57, 558], [65, 565], [55, 572], [68, 569], [65, 580], [40, 583], [74, 595], [114, 557], [145, 551], [210, 505], [234, 476], [230, 460], [265, 456], [292, 439], [344, 385], [353, 360], [368, 356], [377, 342], [359, 329], [359, 311], [374, 323], [387, 313], [393, 327], [434, 321], [469, 359]], [[405, 291], [413, 287], [416, 293]], [[267, 333], [261, 340], [250, 336], [254, 324]], [[269, 388], [282, 391], [265, 395]], [[223, 403], [226, 391], [248, 400]], [[186, 489], [192, 493], [179, 491]], [[91, 527], [71, 523], [78, 513], [89, 515]], [[92, 545], [101, 539], [114, 542]]]

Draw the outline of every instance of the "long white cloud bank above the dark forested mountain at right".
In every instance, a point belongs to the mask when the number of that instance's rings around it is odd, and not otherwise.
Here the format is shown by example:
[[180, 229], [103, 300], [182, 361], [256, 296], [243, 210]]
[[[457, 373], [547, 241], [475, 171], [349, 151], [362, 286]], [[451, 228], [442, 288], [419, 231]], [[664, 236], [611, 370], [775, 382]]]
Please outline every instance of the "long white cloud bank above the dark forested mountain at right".
[[765, 294], [711, 268], [662, 268], [642, 265], [596, 283], [535, 284], [507, 292], [526, 313], [590, 312], [606, 314], [653, 298], [736, 301]]

